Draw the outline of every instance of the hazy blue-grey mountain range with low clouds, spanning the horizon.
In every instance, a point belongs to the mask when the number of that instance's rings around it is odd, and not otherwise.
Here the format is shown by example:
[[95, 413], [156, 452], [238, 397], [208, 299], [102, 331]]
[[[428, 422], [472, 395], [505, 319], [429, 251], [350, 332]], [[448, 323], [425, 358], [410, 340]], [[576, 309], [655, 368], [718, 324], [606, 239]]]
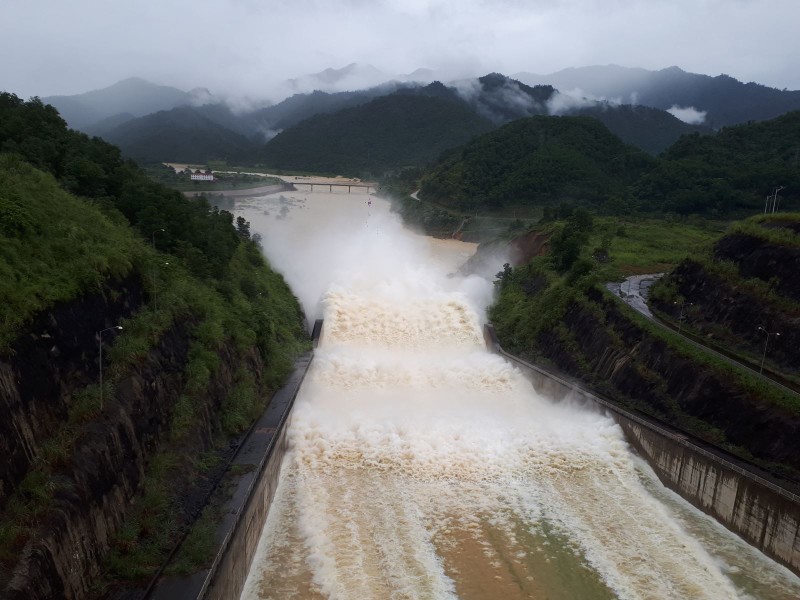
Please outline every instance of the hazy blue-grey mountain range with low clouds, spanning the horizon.
[[[431, 151], [403, 134], [403, 122], [426, 123], [422, 138], [438, 153], [515, 119], [589, 116], [655, 155], [687, 133], [800, 109], [800, 92], [677, 67], [647, 71], [610, 65], [426, 83], [436, 75], [419, 69], [391, 76], [351, 64], [288, 80], [287, 89], [315, 89], [274, 104], [221, 99], [204, 88], [186, 92], [138, 78], [44, 101], [71, 127], [101, 136], [141, 162], [235, 160], [300, 170], [327, 164], [351, 174], [427, 164]], [[437, 119], [441, 102], [451, 110]], [[332, 160], [325, 153], [349, 158]], [[361, 154], [369, 159], [357, 159]]]

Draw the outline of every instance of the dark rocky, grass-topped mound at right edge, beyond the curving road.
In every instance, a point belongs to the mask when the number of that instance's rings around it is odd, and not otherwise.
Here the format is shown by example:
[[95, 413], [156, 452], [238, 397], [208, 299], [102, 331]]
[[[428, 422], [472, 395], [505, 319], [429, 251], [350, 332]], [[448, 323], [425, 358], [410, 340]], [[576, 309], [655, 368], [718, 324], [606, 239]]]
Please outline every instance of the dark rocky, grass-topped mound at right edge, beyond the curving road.
[[736, 222], [658, 282], [651, 304], [706, 343], [800, 383], [798, 232], [797, 213]]

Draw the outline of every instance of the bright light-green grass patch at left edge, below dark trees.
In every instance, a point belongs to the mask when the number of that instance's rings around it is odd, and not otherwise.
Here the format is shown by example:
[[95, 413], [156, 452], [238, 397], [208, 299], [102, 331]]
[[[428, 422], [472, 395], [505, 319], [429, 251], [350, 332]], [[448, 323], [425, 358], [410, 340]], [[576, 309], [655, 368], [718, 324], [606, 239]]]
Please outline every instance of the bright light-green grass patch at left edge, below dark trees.
[[0, 352], [34, 315], [141, 266], [118, 223], [19, 157], [0, 154]]

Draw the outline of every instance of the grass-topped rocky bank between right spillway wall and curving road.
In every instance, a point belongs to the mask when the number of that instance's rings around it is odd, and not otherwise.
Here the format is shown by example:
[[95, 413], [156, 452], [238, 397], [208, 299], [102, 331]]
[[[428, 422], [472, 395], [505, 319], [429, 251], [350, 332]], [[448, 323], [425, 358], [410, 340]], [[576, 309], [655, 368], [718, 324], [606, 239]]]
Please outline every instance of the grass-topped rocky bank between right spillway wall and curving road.
[[602, 286], [614, 271], [651, 270], [695, 254], [686, 243], [690, 236], [699, 245], [716, 236], [680, 225], [659, 233], [663, 227], [656, 222], [649, 231], [660, 235], [659, 250], [633, 240], [632, 225], [593, 221], [579, 211], [549, 224], [542, 231], [550, 236], [546, 256], [498, 274], [490, 318], [501, 343], [616, 402], [800, 481], [793, 441], [800, 424], [797, 396], [697, 349]]

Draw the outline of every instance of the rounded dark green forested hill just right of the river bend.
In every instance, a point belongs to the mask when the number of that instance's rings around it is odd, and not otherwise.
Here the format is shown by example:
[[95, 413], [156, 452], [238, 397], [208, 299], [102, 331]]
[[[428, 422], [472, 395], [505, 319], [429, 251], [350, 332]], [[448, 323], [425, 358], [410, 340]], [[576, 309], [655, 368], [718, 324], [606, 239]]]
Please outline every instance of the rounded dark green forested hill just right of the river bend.
[[435, 165], [420, 197], [461, 209], [624, 195], [654, 159], [596, 119], [529, 117], [487, 133]]

